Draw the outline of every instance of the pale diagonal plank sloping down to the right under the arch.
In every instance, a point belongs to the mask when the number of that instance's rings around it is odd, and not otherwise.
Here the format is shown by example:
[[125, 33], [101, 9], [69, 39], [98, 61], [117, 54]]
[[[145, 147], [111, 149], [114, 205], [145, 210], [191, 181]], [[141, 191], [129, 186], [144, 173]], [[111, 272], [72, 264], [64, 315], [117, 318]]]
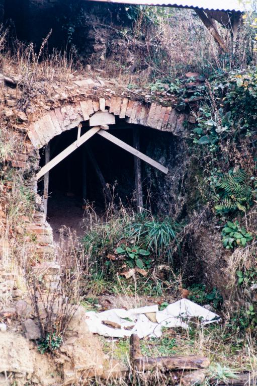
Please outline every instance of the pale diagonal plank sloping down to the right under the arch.
[[134, 156], [140, 158], [141, 160], [147, 162], [147, 164], [153, 166], [154, 168], [160, 170], [162, 173], [167, 174], [168, 169], [159, 164], [158, 162], [152, 160], [150, 157], [146, 156], [145, 154], [141, 153], [139, 150], [135, 149], [134, 147], [128, 145], [126, 142], [123, 142], [121, 139], [115, 137], [114, 135], [110, 134], [108, 131], [105, 130], [99, 130], [98, 134], [102, 137], [108, 139], [109, 141], [115, 143], [117, 146], [122, 147], [124, 150], [129, 151]]

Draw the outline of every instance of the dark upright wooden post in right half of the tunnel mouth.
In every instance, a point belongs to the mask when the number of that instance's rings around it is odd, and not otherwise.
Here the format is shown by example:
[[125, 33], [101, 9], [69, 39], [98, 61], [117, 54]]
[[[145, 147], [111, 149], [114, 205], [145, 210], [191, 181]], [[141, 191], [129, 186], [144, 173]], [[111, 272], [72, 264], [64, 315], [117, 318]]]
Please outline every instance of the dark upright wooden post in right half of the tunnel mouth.
[[[137, 150], [140, 150], [138, 127], [133, 128], [133, 146]], [[136, 207], [137, 207], [137, 212], [141, 213], [143, 210], [141, 160], [135, 156], [134, 156], [134, 170], [135, 170], [135, 188], [136, 188]]]

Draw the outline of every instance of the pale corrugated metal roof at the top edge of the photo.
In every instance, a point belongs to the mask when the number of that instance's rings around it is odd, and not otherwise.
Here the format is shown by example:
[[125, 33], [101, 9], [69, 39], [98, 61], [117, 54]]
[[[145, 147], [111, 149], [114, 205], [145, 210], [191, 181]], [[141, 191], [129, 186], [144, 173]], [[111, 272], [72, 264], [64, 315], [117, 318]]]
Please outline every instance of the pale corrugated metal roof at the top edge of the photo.
[[128, 5], [146, 5], [146, 6], [166, 6], [166, 7], [183, 7], [199, 8], [203, 10], [214, 11], [239, 11], [244, 12], [250, 9], [249, 1], [241, 0], [93, 0], [105, 3], [121, 3]]

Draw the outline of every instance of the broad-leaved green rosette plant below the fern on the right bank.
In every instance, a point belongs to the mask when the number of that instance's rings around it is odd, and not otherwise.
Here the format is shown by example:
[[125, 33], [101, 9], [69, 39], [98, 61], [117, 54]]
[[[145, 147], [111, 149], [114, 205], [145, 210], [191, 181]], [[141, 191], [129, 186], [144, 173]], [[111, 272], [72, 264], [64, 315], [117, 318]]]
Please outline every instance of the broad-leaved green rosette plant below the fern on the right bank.
[[241, 228], [239, 222], [228, 221], [226, 226], [222, 229], [222, 242], [226, 249], [233, 249], [234, 247], [245, 247], [246, 243], [252, 240], [250, 232], [245, 228]]

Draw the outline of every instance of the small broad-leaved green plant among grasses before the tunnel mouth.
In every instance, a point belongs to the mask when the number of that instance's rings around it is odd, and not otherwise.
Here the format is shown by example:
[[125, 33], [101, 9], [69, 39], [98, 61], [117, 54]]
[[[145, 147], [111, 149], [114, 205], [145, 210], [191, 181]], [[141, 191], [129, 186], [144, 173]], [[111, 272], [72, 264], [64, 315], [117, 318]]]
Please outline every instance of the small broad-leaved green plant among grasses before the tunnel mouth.
[[150, 252], [136, 245], [134, 247], [127, 247], [125, 244], [122, 244], [116, 249], [115, 253], [117, 255], [125, 255], [126, 263], [131, 268], [136, 265], [138, 268], [143, 269], [149, 263], [148, 260], [141, 259], [140, 256], [149, 256]]

